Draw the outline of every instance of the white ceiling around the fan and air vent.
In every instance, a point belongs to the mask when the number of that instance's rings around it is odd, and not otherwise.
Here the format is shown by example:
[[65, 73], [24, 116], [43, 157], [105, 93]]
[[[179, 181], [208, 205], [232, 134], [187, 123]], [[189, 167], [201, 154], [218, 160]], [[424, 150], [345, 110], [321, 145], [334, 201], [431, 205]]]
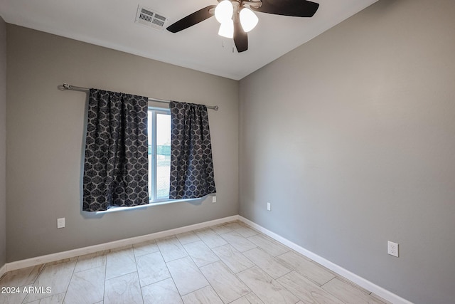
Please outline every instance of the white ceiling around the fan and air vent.
[[179, 33], [134, 22], [138, 5], [165, 16], [166, 28], [216, 0], [0, 0], [0, 15], [18, 26], [240, 80], [378, 0], [313, 1], [320, 6], [312, 18], [256, 13], [259, 23], [243, 53], [218, 36], [215, 18]]

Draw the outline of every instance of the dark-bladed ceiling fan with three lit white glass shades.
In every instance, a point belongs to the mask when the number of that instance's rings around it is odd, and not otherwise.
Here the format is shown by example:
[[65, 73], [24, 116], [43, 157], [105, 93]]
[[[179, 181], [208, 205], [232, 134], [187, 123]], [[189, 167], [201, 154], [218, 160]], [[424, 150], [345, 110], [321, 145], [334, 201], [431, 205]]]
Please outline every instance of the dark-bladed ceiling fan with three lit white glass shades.
[[200, 21], [215, 16], [221, 23], [218, 34], [234, 38], [239, 53], [247, 51], [247, 32], [255, 28], [258, 18], [253, 11], [294, 17], [312, 17], [319, 4], [306, 0], [218, 0], [218, 5], [209, 5], [195, 11], [168, 26], [172, 33], [183, 31]]

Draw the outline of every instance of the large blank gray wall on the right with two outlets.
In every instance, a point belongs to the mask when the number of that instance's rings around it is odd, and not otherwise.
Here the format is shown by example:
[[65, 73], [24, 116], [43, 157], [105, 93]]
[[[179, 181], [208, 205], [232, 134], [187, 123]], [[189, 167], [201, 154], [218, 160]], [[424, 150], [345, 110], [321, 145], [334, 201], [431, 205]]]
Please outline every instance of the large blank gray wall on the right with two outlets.
[[451, 0], [381, 0], [242, 79], [240, 215], [415, 303], [453, 303], [454, 16]]

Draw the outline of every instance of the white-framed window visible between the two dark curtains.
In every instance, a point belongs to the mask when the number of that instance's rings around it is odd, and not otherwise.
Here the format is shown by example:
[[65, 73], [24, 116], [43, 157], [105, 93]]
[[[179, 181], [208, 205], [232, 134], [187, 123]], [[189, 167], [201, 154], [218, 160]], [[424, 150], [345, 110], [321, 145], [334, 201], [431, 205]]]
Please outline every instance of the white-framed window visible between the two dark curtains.
[[168, 201], [171, 169], [171, 111], [149, 108], [149, 199]]

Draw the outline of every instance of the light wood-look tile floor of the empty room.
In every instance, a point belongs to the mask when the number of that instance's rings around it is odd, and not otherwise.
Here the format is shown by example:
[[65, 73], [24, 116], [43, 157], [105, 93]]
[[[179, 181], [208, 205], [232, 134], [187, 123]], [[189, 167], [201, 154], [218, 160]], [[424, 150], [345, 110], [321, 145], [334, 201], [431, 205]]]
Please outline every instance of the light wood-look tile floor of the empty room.
[[11, 271], [0, 287], [18, 288], [0, 293], [14, 304], [387, 303], [241, 221]]

